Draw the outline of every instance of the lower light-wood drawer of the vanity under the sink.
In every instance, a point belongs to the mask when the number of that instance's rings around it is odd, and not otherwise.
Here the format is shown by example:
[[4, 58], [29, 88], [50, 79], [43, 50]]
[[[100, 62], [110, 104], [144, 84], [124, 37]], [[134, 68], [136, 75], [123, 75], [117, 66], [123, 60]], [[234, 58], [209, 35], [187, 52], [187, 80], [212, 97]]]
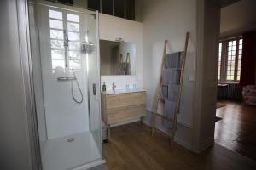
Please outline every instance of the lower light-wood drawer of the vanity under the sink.
[[107, 111], [108, 123], [124, 122], [132, 118], [145, 116], [145, 105], [130, 106], [119, 110]]

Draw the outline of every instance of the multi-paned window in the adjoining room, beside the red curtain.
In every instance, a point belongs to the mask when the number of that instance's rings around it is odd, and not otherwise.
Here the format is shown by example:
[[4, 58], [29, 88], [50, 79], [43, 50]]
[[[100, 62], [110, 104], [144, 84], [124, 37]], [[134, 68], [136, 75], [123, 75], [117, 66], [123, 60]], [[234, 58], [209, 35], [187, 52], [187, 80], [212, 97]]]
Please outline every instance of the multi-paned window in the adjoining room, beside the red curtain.
[[241, 78], [242, 37], [218, 44], [218, 81], [239, 82]]

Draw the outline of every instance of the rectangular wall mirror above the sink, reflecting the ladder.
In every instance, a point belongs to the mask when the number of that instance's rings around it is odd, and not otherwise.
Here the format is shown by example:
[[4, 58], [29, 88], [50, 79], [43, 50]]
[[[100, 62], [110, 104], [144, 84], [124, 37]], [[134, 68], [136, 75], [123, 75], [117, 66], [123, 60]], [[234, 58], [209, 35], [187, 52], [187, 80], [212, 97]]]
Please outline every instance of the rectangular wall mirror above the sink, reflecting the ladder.
[[100, 40], [101, 75], [135, 75], [136, 46], [129, 42]]

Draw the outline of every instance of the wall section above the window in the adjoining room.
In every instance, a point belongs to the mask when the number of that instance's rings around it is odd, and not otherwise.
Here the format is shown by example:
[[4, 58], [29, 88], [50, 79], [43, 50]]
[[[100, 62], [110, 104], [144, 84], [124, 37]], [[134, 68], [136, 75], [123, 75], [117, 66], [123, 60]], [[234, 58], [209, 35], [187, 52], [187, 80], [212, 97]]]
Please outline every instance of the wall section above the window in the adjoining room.
[[256, 29], [255, 8], [255, 0], [241, 0], [221, 8], [220, 33], [233, 34]]

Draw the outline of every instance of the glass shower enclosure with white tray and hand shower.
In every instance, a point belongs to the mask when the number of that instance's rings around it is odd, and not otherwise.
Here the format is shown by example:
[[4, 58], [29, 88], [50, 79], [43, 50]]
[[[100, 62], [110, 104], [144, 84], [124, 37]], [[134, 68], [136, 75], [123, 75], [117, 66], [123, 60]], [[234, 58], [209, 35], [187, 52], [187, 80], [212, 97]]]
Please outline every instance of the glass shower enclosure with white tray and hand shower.
[[98, 14], [44, 1], [28, 12], [42, 167], [100, 164]]

